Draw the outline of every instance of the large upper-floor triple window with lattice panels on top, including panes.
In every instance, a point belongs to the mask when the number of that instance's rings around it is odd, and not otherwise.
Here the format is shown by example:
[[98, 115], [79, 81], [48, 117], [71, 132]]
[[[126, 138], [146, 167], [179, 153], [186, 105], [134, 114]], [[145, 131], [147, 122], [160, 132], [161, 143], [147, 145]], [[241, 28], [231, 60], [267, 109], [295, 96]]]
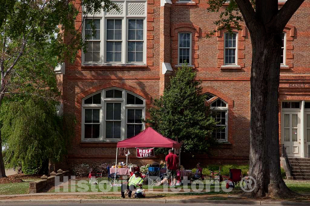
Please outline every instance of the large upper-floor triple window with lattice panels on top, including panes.
[[[95, 49], [87, 46], [82, 52], [83, 65], [145, 65], [146, 64], [146, 15], [145, 0], [116, 0], [119, 11], [101, 11], [86, 15], [83, 24], [83, 38], [93, 40], [87, 22], [96, 20], [96, 30], [100, 31], [99, 43]], [[99, 28], [99, 29], [98, 29]], [[91, 34], [91, 33], [90, 33]], [[87, 44], [88, 45], [88, 44]], [[97, 53], [95, 53], [97, 52]], [[96, 56], [94, 56], [96, 55]], [[90, 61], [91, 60], [91, 61]], [[95, 60], [95, 61], [94, 61]]]

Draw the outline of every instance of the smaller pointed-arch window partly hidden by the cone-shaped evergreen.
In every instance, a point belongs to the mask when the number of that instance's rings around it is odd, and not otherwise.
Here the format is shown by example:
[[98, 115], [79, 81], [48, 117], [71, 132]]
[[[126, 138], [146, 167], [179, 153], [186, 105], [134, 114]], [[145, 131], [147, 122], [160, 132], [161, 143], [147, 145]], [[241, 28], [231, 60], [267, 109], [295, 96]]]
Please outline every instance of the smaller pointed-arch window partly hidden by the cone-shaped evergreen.
[[218, 98], [211, 103], [212, 116], [215, 119], [216, 131], [213, 137], [218, 141], [227, 141], [228, 134], [228, 104]]

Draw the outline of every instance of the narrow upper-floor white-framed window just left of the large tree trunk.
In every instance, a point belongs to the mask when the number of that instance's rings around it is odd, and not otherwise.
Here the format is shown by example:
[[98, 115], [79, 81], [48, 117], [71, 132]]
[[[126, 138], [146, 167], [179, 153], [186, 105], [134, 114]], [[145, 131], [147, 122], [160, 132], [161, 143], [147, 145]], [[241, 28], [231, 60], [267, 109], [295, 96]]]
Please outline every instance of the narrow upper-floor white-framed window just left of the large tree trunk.
[[237, 33], [224, 33], [224, 64], [237, 65]]

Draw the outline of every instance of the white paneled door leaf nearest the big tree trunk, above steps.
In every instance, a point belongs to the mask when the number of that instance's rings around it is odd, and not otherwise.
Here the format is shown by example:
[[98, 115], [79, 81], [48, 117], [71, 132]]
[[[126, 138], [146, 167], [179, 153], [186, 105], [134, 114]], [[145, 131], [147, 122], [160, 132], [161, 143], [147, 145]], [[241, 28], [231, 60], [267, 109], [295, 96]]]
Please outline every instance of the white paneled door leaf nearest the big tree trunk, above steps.
[[300, 157], [300, 112], [282, 112], [282, 144], [286, 147], [289, 157]]

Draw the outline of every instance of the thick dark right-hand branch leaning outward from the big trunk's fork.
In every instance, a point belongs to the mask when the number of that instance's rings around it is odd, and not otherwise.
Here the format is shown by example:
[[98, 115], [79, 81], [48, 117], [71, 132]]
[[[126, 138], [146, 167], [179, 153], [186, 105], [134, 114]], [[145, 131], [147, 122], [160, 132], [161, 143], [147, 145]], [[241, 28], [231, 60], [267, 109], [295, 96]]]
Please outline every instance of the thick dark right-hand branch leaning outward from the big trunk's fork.
[[272, 27], [276, 27], [274, 29], [278, 29], [279, 32], [282, 32], [285, 25], [303, 2], [304, 0], [287, 0], [277, 12], [277, 15], [268, 24]]

